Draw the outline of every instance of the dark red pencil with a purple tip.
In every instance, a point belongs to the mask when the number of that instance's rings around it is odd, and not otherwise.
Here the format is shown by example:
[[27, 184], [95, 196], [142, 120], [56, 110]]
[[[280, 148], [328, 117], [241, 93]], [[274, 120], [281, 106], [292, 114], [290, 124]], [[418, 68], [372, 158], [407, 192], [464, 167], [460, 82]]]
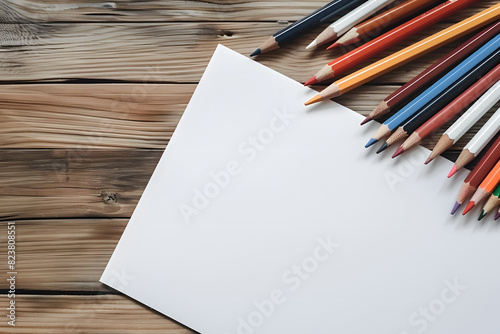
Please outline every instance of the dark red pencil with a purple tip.
[[460, 205], [467, 198], [469, 198], [477, 189], [479, 184], [483, 181], [489, 171], [495, 166], [496, 162], [500, 159], [500, 136], [495, 139], [495, 142], [486, 151], [483, 157], [479, 160], [476, 167], [467, 175], [458, 192], [457, 200], [453, 205], [451, 214], [455, 214]]

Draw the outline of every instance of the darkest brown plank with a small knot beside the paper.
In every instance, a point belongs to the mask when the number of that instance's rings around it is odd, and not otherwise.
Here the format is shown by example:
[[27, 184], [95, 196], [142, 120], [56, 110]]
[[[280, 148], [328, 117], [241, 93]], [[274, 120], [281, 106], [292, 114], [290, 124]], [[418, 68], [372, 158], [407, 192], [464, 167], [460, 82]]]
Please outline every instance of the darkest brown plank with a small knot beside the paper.
[[0, 220], [130, 217], [160, 150], [0, 150]]

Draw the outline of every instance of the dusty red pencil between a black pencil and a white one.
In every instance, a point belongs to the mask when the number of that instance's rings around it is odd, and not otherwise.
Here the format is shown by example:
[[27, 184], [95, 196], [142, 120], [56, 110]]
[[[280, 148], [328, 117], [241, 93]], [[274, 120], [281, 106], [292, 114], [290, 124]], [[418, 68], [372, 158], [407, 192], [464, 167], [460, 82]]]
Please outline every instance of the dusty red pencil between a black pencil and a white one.
[[[500, 64], [495, 66], [484, 77], [470, 86], [450, 104], [441, 109], [437, 114], [432, 116], [427, 122], [416, 129], [408, 139], [399, 147], [398, 151], [405, 152], [410, 148], [419, 145], [422, 140], [429, 137], [434, 131], [446, 124], [450, 119], [467, 108], [472, 102], [478, 99], [484, 92], [500, 80]], [[434, 157], [430, 157], [425, 162], [429, 163]]]

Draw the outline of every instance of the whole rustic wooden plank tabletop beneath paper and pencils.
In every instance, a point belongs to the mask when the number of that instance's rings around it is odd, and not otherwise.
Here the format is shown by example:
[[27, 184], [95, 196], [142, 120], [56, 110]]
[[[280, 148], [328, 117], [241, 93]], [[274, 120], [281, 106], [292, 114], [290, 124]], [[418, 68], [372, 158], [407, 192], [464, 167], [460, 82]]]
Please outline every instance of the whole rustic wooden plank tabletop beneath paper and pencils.
[[[425, 35], [497, 2], [480, 1]], [[98, 279], [217, 43], [248, 55], [324, 3], [0, 2], [0, 332], [193, 333]], [[320, 30], [258, 61], [304, 82], [338, 55], [304, 50]], [[366, 115], [463, 40], [338, 102]], [[8, 221], [15, 328], [5, 309]]]

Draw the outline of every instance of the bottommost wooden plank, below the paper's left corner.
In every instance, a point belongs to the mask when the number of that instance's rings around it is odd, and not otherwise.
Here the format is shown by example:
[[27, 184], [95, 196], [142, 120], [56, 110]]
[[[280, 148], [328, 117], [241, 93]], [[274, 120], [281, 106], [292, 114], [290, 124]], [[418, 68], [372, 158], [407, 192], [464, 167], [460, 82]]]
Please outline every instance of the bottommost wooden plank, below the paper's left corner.
[[[7, 305], [5, 294], [0, 301]], [[3, 318], [0, 331], [15, 334], [196, 333], [122, 295], [17, 295], [16, 327]]]

